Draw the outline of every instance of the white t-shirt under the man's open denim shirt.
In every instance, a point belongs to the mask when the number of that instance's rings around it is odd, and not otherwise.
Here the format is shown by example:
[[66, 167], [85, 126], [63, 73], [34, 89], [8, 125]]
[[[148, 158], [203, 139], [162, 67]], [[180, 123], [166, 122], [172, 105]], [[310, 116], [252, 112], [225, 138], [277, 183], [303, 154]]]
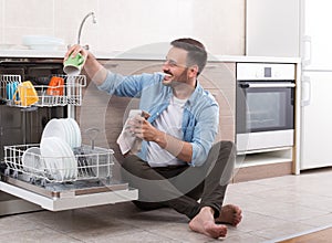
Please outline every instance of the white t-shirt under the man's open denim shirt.
[[[179, 99], [175, 96], [172, 97], [168, 107], [160, 114], [154, 122], [154, 127], [173, 137], [183, 139], [183, 114], [187, 99]], [[147, 144], [146, 160], [151, 167], [166, 167], [175, 165], [185, 165], [170, 152], [160, 148], [156, 142], [149, 141]]]

